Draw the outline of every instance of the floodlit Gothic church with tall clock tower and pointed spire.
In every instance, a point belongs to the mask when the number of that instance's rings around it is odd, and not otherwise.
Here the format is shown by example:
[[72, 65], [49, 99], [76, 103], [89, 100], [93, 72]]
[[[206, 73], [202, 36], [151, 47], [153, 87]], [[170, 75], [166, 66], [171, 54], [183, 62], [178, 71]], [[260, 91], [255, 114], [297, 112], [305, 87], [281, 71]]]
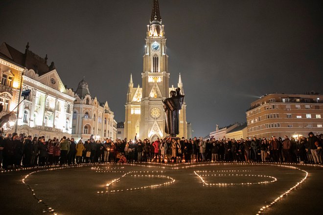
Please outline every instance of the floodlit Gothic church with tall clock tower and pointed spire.
[[[169, 87], [168, 56], [166, 54], [166, 38], [158, 0], [154, 0], [147, 25], [142, 87], [134, 87], [132, 74], [125, 105], [124, 133], [127, 139], [149, 138], [151, 141], [167, 136], [164, 132], [165, 115], [161, 100], [169, 97], [170, 90], [181, 87], [184, 94], [181, 75], [177, 86]], [[180, 134], [187, 136], [186, 105], [180, 111]]]

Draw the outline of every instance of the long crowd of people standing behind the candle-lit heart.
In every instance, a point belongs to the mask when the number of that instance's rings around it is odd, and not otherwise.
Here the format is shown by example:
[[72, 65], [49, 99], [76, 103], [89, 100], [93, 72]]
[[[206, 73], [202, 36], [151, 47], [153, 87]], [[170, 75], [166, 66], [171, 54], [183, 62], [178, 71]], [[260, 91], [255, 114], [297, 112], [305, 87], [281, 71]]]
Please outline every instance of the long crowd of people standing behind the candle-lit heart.
[[23, 167], [97, 162], [289, 162], [322, 164], [323, 134], [298, 139], [273, 136], [270, 139], [214, 138], [203, 140], [166, 138], [127, 139], [115, 141], [76, 141], [65, 136], [46, 140], [44, 136], [34, 137], [7, 133], [0, 135], [0, 170]]

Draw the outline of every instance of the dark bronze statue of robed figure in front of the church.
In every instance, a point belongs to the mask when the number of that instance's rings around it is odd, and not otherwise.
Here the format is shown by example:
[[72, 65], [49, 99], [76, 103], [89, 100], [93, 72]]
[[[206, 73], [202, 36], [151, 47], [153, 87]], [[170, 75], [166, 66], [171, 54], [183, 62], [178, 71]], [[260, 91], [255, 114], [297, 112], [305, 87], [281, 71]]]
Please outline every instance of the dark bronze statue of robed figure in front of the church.
[[184, 103], [184, 95], [181, 95], [181, 88], [170, 91], [170, 97], [162, 101], [165, 111], [165, 132], [171, 137], [180, 133], [179, 117], [180, 109]]

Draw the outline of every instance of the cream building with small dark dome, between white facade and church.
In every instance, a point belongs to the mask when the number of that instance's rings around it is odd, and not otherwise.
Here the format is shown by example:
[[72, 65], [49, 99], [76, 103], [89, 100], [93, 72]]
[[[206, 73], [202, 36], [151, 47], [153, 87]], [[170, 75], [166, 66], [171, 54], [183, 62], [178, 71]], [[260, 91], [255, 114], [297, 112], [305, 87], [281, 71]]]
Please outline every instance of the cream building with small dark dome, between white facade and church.
[[116, 138], [114, 112], [110, 110], [108, 102], [100, 103], [91, 96], [84, 77], [77, 86], [74, 98], [72, 137], [76, 141], [81, 138], [87, 140], [91, 135], [99, 140]]

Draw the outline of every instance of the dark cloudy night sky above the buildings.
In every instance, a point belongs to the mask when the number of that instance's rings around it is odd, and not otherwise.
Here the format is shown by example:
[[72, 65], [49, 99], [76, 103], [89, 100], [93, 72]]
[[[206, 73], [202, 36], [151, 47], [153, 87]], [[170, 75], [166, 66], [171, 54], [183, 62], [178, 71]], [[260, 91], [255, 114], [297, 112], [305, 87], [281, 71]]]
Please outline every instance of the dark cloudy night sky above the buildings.
[[[54, 61], [64, 84], [124, 121], [130, 73], [140, 83], [153, 0], [1, 0], [0, 43]], [[322, 0], [160, 0], [171, 83], [182, 74], [196, 136], [245, 122], [272, 92], [323, 93]]]

